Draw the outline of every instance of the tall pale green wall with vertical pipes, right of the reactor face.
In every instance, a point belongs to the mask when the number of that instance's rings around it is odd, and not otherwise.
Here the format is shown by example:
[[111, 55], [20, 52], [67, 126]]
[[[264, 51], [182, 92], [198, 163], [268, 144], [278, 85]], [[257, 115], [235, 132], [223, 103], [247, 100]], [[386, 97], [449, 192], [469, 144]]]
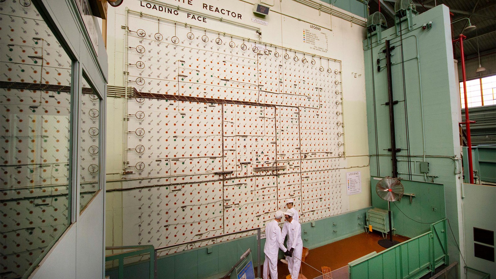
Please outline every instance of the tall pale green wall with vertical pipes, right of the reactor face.
[[[429, 21], [433, 22], [433, 28], [424, 30], [422, 25]], [[398, 101], [394, 105], [395, 135], [396, 146], [402, 149], [398, 153], [398, 176], [443, 185], [446, 217], [450, 220], [456, 242], [460, 243], [459, 93], [449, 10], [438, 5], [413, 16], [412, 23], [413, 29], [409, 30], [407, 22], [403, 22], [401, 37], [396, 35], [394, 26], [382, 31], [382, 38], [390, 40], [391, 46], [395, 47], [391, 58], [393, 98]], [[385, 42], [378, 44], [376, 36], [372, 41], [372, 49], [364, 47], [370, 165], [371, 175], [385, 177], [392, 175], [391, 152], [387, 151], [390, 148], [389, 108], [384, 105], [387, 102], [385, 55], [382, 53]], [[377, 59], [380, 59], [380, 71], [377, 71]], [[427, 175], [420, 172], [420, 163], [424, 161], [429, 162]], [[423, 210], [412, 208], [408, 213], [421, 222], [433, 221], [432, 216], [424, 214]], [[409, 222], [395, 225], [402, 234], [417, 233]], [[454, 243], [450, 235], [450, 261], [460, 262]]]

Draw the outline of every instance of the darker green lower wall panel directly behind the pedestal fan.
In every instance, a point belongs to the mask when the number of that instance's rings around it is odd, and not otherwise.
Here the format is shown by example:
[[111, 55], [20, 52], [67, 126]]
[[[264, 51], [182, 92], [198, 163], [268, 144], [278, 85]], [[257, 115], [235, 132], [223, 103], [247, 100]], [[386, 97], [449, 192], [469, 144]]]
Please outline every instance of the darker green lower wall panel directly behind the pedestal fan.
[[[387, 202], [375, 193], [375, 185], [381, 178], [375, 176], [371, 178], [372, 206], [387, 210]], [[444, 186], [411, 180], [402, 180], [401, 183], [405, 187], [405, 193], [415, 194], [415, 197], [412, 198], [412, 202], [409, 196], [403, 196], [401, 201], [391, 203], [393, 224], [396, 234], [413, 238], [431, 229], [430, 224], [418, 222], [436, 222], [445, 217]]]

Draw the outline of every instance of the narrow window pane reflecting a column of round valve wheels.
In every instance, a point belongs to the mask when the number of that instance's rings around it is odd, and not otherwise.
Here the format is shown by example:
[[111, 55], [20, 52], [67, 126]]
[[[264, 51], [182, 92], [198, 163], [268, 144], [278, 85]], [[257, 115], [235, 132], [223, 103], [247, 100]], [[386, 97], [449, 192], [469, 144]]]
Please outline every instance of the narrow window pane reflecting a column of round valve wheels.
[[91, 198], [100, 189], [100, 99], [92, 88], [88, 79], [83, 75], [83, 88], [81, 95], [81, 112], [79, 125], [81, 136], [80, 149], [80, 194], [79, 210], [91, 201]]

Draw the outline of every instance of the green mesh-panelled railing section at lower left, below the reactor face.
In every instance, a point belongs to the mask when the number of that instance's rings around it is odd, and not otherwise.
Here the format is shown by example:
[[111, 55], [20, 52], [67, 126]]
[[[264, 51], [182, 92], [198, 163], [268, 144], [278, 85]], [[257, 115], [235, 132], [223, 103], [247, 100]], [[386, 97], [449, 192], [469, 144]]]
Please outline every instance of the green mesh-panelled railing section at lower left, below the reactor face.
[[113, 246], [105, 250], [105, 278], [153, 279], [155, 278], [156, 254], [153, 245]]

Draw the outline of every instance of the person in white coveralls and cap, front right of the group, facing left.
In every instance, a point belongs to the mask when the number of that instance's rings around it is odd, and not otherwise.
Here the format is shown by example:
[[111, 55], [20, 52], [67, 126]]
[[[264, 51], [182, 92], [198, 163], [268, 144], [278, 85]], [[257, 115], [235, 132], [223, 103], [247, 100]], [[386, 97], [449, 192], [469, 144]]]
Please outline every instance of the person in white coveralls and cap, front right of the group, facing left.
[[285, 211], [284, 217], [286, 222], [282, 227], [283, 239], [288, 235], [286, 246], [289, 249], [288, 270], [291, 279], [298, 279], [300, 274], [300, 266], [302, 265], [303, 241], [302, 241], [302, 226], [300, 222], [293, 219], [293, 211]]

